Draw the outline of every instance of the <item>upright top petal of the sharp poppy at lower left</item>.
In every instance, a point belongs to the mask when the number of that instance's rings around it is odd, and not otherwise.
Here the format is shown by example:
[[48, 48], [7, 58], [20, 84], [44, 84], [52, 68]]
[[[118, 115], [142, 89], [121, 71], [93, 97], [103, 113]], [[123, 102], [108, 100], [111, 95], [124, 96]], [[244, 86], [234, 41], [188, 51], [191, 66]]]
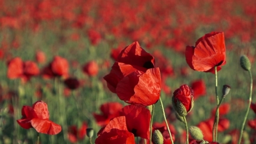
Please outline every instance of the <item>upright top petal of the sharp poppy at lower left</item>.
[[36, 115], [38, 116], [38, 118], [49, 119], [49, 111], [48, 111], [47, 104], [45, 102], [36, 101], [32, 107], [36, 112]]

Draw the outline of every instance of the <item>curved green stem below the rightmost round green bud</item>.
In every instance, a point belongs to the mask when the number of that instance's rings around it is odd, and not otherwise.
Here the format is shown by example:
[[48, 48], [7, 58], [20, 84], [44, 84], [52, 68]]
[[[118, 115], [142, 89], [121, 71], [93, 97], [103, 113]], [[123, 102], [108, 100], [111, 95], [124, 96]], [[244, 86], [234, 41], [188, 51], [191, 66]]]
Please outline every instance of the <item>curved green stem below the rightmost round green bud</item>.
[[253, 76], [252, 76], [252, 72], [249, 70], [249, 75], [250, 75], [250, 80], [251, 80], [251, 84], [250, 84], [250, 94], [249, 94], [249, 104], [248, 104], [248, 107], [247, 107], [247, 110], [246, 110], [246, 114], [245, 114], [245, 117], [243, 119], [243, 124], [242, 124], [242, 128], [240, 130], [240, 137], [239, 137], [239, 142], [238, 144], [241, 143], [241, 140], [242, 140], [242, 135], [243, 135], [243, 128], [244, 128], [244, 125], [245, 125], [245, 122], [246, 122], [246, 119], [247, 119], [247, 116], [248, 116], [248, 113], [249, 113], [249, 110], [250, 110], [250, 105], [251, 105], [251, 102], [252, 102], [252, 94], [253, 94]]

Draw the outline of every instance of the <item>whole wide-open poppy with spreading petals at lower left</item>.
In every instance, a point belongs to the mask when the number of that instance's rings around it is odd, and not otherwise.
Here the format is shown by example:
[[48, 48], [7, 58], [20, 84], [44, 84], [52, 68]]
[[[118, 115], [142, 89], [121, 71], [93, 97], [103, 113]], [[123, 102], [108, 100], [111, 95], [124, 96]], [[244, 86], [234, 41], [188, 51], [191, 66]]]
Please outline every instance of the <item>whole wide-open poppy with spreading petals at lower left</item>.
[[22, 118], [16, 120], [22, 128], [35, 128], [37, 132], [43, 134], [59, 134], [61, 126], [49, 120], [47, 104], [43, 101], [36, 101], [32, 107], [23, 106], [21, 110]]

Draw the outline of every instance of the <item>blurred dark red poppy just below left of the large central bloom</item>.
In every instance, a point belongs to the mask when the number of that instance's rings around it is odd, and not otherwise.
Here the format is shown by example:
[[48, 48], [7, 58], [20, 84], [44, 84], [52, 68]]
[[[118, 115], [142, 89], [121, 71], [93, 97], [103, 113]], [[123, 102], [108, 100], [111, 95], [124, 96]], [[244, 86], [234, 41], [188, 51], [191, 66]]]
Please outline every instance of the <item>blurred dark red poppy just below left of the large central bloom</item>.
[[108, 102], [100, 107], [100, 111], [102, 114], [93, 114], [96, 122], [100, 126], [105, 126], [108, 124], [108, 122], [117, 116], [119, 116], [119, 111], [123, 108], [123, 105], [121, 105], [118, 102]]

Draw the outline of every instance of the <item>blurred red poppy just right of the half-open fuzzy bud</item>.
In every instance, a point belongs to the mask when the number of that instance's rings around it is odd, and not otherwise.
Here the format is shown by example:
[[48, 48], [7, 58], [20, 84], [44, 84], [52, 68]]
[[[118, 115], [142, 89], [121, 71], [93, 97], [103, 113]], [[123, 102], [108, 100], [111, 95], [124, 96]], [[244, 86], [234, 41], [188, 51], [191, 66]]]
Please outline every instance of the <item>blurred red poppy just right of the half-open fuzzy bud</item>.
[[194, 90], [194, 99], [206, 94], [206, 85], [202, 79], [193, 81], [191, 88]]

